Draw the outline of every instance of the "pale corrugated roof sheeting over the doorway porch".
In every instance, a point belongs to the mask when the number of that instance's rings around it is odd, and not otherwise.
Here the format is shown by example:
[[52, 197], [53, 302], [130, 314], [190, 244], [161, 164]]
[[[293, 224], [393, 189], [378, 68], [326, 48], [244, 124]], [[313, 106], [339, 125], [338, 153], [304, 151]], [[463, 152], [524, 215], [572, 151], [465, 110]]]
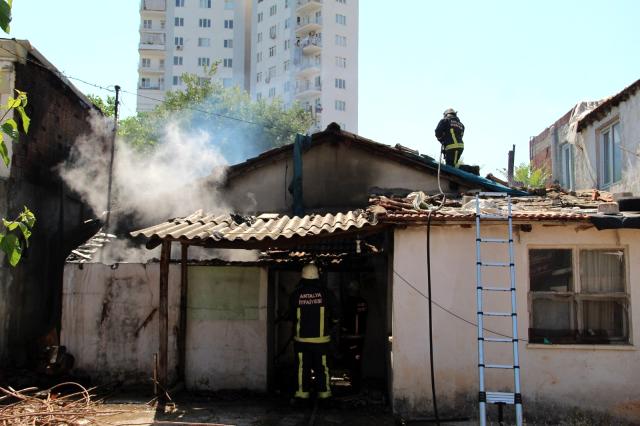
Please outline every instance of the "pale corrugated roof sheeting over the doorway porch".
[[191, 241], [263, 241], [314, 236], [363, 228], [377, 224], [375, 217], [364, 210], [337, 214], [312, 214], [289, 217], [278, 214], [239, 216], [197, 211], [190, 216], [171, 219], [131, 233], [161, 239]]

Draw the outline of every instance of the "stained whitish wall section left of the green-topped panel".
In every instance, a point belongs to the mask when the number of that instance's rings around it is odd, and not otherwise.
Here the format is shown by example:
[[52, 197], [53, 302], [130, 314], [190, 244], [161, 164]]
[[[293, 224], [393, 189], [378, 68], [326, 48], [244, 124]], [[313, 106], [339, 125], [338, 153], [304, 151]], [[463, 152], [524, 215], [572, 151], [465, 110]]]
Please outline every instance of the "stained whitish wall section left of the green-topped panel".
[[[67, 264], [60, 342], [75, 370], [98, 381], [150, 383], [158, 352], [158, 263]], [[169, 377], [176, 370], [180, 266], [169, 271]], [[139, 331], [138, 331], [139, 330]], [[136, 334], [136, 331], [137, 334]]]

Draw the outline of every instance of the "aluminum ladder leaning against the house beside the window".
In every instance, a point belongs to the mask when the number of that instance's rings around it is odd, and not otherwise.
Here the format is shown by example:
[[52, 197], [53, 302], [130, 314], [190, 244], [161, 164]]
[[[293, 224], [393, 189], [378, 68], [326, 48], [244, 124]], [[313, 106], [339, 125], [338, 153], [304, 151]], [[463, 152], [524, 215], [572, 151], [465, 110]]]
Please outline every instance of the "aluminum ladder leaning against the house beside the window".
[[[480, 197], [501, 197], [507, 201], [507, 215], [504, 214], [484, 214], [480, 210]], [[507, 223], [508, 238], [486, 238], [480, 232], [480, 224], [482, 220], [503, 221]], [[508, 244], [509, 262], [485, 262], [482, 260], [481, 247], [483, 245]], [[482, 271], [484, 268], [509, 268], [510, 286], [500, 286], [495, 284], [491, 287], [485, 286], [482, 280]], [[511, 293], [511, 309], [507, 312], [485, 312], [483, 310], [483, 293], [484, 292], [510, 292]], [[487, 424], [487, 404], [498, 404], [500, 412], [500, 421], [502, 421], [502, 408], [504, 405], [515, 405], [516, 425], [522, 425], [522, 395], [520, 393], [520, 363], [518, 356], [518, 317], [516, 310], [516, 274], [515, 260], [513, 252], [513, 216], [511, 211], [511, 196], [504, 193], [481, 192], [476, 195], [476, 293], [477, 293], [477, 314], [478, 314], [478, 377], [480, 381], [479, 387], [479, 411], [480, 425]], [[504, 319], [511, 318], [511, 336], [509, 337], [485, 337], [484, 336], [484, 318], [485, 317], [502, 317]], [[507, 345], [511, 344], [513, 348], [513, 363], [504, 364], [487, 364], [485, 363], [485, 344]], [[485, 369], [509, 369], [513, 370], [513, 392], [492, 392], [485, 389]]]

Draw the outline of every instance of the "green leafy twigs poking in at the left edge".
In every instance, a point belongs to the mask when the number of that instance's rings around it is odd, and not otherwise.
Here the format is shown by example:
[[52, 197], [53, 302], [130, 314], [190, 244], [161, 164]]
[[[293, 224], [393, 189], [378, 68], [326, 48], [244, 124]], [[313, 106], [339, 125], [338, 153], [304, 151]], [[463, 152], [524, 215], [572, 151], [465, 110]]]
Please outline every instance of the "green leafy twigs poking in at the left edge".
[[[9, 33], [9, 23], [11, 22], [12, 0], [0, 0], [0, 28]], [[20, 131], [27, 133], [31, 120], [25, 112], [27, 106], [27, 94], [16, 90], [16, 97], [9, 97], [6, 105], [0, 106], [4, 113], [0, 117], [0, 157], [6, 167], [11, 164], [9, 150], [4, 140], [5, 135], [9, 136], [13, 143], [20, 139]], [[17, 113], [20, 116], [21, 126], [12, 118]], [[7, 118], [9, 117], [9, 118]], [[27, 208], [14, 220], [2, 219], [3, 230], [0, 232], [0, 250], [5, 252], [7, 260], [11, 266], [16, 266], [22, 257], [24, 247], [29, 245], [31, 229], [35, 224], [35, 215]]]

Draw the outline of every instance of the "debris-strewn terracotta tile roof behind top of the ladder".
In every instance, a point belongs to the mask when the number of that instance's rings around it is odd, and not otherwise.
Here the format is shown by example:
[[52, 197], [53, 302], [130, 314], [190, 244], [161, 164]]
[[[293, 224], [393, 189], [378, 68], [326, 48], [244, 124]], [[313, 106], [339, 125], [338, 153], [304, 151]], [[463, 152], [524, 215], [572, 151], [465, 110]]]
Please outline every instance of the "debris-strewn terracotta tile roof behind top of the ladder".
[[[608, 194], [598, 193], [593, 197], [592, 191], [576, 195], [551, 192], [544, 197], [512, 197], [512, 215], [514, 221], [588, 222], [590, 217], [597, 213], [598, 204], [608, 199]], [[421, 203], [416, 203], [415, 200], [415, 196], [411, 195], [408, 198], [375, 197], [370, 200], [372, 205], [370, 209], [376, 213], [376, 217], [382, 223], [424, 223], [429, 217], [429, 209], [439, 205], [439, 199], [426, 197]], [[481, 210], [483, 213], [505, 214], [506, 200], [504, 198], [483, 200]], [[432, 213], [431, 220], [473, 221], [475, 220], [475, 199], [468, 199], [464, 205], [460, 199], [448, 200], [440, 210]]]

